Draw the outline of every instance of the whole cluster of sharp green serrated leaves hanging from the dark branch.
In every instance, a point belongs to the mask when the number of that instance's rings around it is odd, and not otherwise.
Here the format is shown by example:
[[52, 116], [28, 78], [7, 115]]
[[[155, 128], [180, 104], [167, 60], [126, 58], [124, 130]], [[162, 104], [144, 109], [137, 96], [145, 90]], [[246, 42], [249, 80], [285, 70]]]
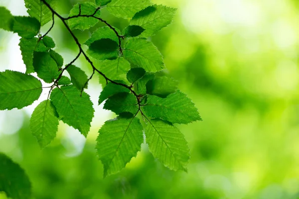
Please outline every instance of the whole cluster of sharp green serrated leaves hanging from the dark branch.
[[[137, 155], [144, 135], [154, 157], [172, 170], [186, 171], [189, 149], [173, 123], [187, 124], [201, 118], [193, 102], [177, 90], [176, 82], [161, 72], [165, 69], [162, 55], [147, 39], [172, 21], [175, 9], [152, 5], [149, 0], [96, 0], [75, 4], [69, 16], [63, 17], [55, 11], [56, 5], [57, 0], [25, 0], [30, 16], [12, 16], [0, 7], [0, 28], [21, 37], [19, 46], [26, 65], [26, 74], [0, 72], [0, 109], [32, 104], [46, 89], [43, 81], [51, 84], [48, 99], [35, 108], [30, 119], [39, 145], [43, 148], [55, 138], [59, 120], [87, 137], [94, 105], [84, 89], [97, 73], [103, 87], [99, 104], [106, 100], [104, 108], [118, 115], [105, 122], [97, 138], [104, 176], [121, 171]], [[121, 32], [101, 18], [104, 7], [117, 17], [130, 19], [129, 26]], [[48, 36], [54, 16], [63, 22], [79, 48], [77, 56], [64, 66]], [[40, 34], [40, 27], [50, 21], [49, 30]], [[105, 26], [84, 43], [88, 47], [85, 51], [73, 30], [89, 29], [98, 22]], [[73, 65], [80, 56], [92, 69], [90, 77]]]

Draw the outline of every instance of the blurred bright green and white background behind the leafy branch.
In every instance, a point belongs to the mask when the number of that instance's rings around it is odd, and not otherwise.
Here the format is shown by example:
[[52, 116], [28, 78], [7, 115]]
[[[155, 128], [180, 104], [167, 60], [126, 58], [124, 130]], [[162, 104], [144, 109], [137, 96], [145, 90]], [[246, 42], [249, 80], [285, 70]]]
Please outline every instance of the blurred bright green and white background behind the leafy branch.
[[[103, 179], [95, 139], [113, 114], [102, 106], [86, 140], [61, 123], [43, 150], [28, 128], [38, 102], [0, 111], [0, 152], [26, 171], [36, 199], [299, 199], [298, 0], [152, 1], [178, 8], [151, 40], [203, 118], [179, 126], [191, 151], [188, 173], [164, 168], [144, 144], [126, 169]], [[67, 16], [76, 2], [60, 1], [59, 13]], [[0, 5], [27, 15], [22, 0]], [[121, 29], [128, 24], [102, 15]], [[84, 41], [94, 30], [75, 33]], [[50, 36], [71, 61], [78, 49], [58, 18]], [[25, 71], [18, 39], [0, 30], [0, 71]], [[76, 65], [91, 74], [83, 59]], [[97, 83], [87, 90], [95, 104]]]

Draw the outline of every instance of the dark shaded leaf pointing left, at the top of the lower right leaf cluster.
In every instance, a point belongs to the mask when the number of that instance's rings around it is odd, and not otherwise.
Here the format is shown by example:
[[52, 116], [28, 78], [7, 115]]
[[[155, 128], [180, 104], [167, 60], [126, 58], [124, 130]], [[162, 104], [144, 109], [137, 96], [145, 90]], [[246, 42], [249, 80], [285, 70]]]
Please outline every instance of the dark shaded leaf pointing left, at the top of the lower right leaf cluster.
[[[121, 83], [125, 84], [124, 82], [121, 81]], [[118, 93], [129, 93], [130, 90], [127, 89], [126, 87], [113, 84], [113, 83], [108, 83], [106, 87], [104, 87], [103, 91], [101, 92], [101, 95], [99, 97], [99, 105], [104, 101], [107, 100], [108, 98], [112, 97], [115, 94]]]

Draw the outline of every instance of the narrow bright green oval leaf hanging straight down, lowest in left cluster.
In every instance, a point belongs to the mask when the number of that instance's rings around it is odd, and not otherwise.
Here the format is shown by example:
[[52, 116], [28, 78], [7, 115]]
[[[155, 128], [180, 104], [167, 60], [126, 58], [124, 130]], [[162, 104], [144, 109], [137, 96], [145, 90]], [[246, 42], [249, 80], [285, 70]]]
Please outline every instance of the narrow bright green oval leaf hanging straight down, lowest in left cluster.
[[58, 114], [50, 100], [40, 102], [30, 118], [30, 129], [41, 148], [46, 147], [56, 137]]

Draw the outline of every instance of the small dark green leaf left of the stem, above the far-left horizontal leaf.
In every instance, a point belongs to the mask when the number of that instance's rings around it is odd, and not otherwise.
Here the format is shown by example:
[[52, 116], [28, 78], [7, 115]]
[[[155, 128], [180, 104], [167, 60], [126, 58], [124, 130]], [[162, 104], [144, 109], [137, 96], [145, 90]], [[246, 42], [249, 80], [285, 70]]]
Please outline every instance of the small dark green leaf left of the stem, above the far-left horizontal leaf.
[[37, 76], [46, 83], [52, 83], [60, 74], [56, 62], [48, 52], [34, 52], [33, 67]]

